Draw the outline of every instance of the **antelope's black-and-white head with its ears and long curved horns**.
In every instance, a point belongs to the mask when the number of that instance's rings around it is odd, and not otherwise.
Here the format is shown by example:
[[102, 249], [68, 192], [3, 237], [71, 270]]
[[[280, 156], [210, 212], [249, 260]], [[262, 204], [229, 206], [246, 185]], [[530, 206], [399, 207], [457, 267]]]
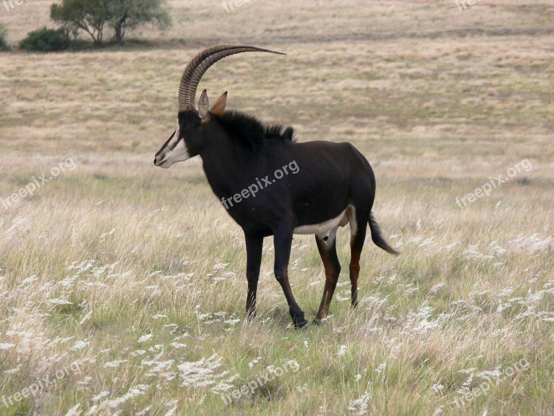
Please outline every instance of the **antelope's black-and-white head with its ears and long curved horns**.
[[196, 91], [202, 76], [209, 67], [226, 56], [242, 52], [268, 52], [284, 53], [260, 49], [255, 46], [241, 44], [220, 44], [204, 49], [191, 60], [181, 76], [179, 85], [179, 114], [177, 114], [177, 128], [170, 135], [161, 149], [156, 153], [154, 165], [161, 168], [169, 168], [176, 162], [195, 157], [202, 152], [206, 144], [208, 125], [211, 114], [222, 115], [225, 110], [227, 93], [224, 92], [217, 98], [210, 108], [208, 94], [204, 89], [198, 102], [198, 110], [195, 107]]

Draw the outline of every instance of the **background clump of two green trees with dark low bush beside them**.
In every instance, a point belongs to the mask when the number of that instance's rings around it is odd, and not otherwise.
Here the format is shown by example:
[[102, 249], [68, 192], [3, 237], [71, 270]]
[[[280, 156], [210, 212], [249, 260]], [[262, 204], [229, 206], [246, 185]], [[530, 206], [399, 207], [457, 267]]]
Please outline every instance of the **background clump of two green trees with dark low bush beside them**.
[[51, 19], [60, 28], [33, 31], [19, 46], [35, 51], [59, 51], [78, 44], [80, 33], [89, 35], [94, 46], [102, 46], [107, 28], [111, 29], [115, 42], [124, 44], [129, 31], [139, 26], [168, 28], [171, 18], [164, 6], [164, 0], [60, 0], [50, 10]]

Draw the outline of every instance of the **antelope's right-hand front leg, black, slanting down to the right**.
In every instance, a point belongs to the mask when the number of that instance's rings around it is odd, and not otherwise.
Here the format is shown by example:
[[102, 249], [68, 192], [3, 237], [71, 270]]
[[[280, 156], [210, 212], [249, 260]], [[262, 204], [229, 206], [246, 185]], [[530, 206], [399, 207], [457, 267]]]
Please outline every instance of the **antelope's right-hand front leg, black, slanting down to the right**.
[[304, 328], [307, 326], [307, 320], [304, 318], [304, 312], [300, 309], [300, 306], [296, 303], [294, 295], [292, 295], [292, 289], [289, 284], [289, 258], [290, 258], [290, 248], [292, 245], [292, 232], [293, 229], [279, 230], [274, 232], [274, 247], [275, 247], [275, 277], [281, 288], [283, 288], [283, 293], [287, 298], [287, 303], [289, 304], [289, 313], [294, 322], [295, 328]]

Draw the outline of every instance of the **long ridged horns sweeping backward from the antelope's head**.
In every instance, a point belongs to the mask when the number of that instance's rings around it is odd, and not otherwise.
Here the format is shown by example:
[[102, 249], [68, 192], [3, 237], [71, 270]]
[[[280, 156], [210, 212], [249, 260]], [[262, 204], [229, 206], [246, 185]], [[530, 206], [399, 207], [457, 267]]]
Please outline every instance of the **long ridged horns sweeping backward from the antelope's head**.
[[204, 49], [204, 51], [198, 53], [195, 58], [188, 63], [183, 72], [183, 76], [181, 76], [181, 84], [179, 85], [179, 112], [195, 109], [196, 89], [202, 76], [209, 67], [218, 60], [242, 52], [268, 52], [285, 55], [285, 53], [242, 44], [220, 44]]

